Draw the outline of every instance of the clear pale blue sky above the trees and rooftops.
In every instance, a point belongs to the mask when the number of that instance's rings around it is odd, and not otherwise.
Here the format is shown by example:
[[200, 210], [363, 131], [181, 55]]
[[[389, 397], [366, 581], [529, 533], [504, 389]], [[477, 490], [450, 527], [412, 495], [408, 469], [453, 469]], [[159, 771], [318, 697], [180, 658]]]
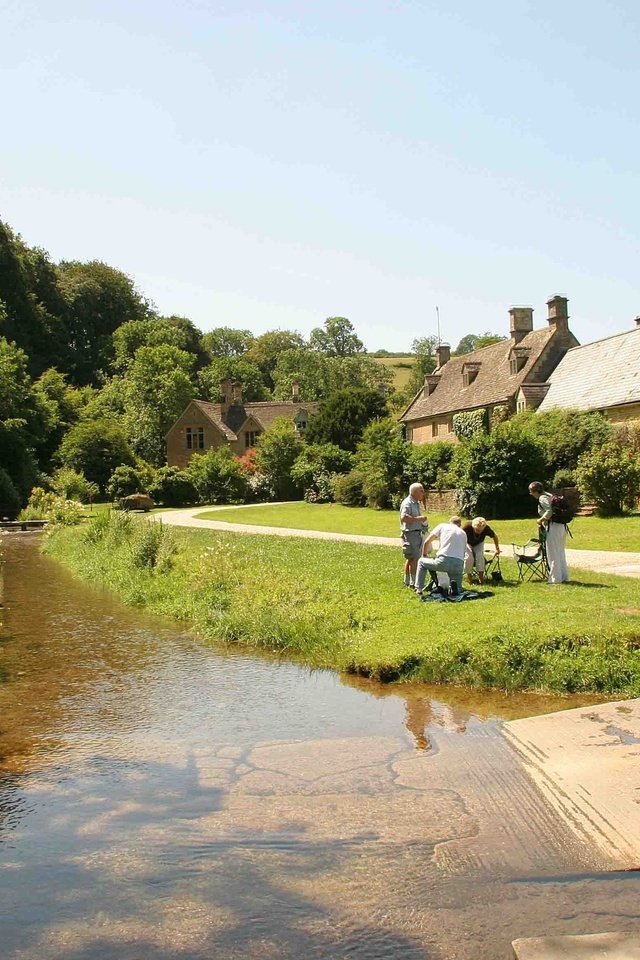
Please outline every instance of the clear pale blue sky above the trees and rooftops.
[[640, 314], [637, 0], [0, 0], [0, 218], [163, 314], [370, 350]]

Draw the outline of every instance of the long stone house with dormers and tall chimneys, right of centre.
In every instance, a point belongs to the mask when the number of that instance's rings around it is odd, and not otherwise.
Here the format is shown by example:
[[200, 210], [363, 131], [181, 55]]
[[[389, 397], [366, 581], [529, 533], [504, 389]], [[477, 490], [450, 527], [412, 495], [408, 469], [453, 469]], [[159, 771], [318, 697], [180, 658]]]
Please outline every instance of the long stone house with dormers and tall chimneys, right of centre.
[[407, 439], [414, 444], [455, 441], [456, 413], [486, 410], [491, 422], [498, 414], [537, 409], [549, 377], [578, 345], [569, 330], [567, 304], [566, 297], [551, 297], [547, 325], [538, 330], [531, 307], [512, 307], [509, 338], [473, 353], [452, 357], [450, 347], [441, 344], [438, 366], [399, 418]]

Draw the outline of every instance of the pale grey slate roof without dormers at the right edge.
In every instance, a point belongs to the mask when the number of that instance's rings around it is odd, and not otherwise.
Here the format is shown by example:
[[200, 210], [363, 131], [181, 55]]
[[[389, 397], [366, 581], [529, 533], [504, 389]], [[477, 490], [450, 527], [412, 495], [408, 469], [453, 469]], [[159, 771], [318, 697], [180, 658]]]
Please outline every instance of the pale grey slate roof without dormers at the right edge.
[[640, 328], [568, 350], [538, 409], [604, 410], [625, 403], [640, 403]]

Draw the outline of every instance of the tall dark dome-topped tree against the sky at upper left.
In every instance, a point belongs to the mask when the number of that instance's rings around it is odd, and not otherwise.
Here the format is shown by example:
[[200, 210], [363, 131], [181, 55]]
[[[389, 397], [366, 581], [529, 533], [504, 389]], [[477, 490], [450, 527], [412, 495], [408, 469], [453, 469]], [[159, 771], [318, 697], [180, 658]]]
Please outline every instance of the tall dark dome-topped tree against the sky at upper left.
[[148, 302], [133, 281], [99, 260], [63, 261], [58, 286], [65, 304], [69, 374], [74, 383], [94, 383], [113, 360], [112, 335], [123, 323], [149, 316]]

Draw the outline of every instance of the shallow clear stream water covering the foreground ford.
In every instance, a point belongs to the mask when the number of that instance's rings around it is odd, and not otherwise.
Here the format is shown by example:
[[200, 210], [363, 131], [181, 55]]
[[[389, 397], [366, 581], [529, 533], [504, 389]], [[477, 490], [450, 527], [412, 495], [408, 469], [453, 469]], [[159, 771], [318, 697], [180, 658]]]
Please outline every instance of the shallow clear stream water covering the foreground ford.
[[[212, 649], [3, 540], [2, 960], [495, 958], [631, 930], [501, 734], [567, 699]], [[583, 701], [584, 702], [584, 701]]]

